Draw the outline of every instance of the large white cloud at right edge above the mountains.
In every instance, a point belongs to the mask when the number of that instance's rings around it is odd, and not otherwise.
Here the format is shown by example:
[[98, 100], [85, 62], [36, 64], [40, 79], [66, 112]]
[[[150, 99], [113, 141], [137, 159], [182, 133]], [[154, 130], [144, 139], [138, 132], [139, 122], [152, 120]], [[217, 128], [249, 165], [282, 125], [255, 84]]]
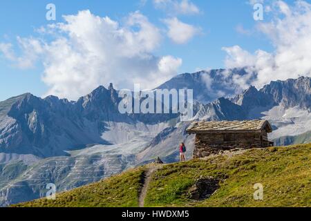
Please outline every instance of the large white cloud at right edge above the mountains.
[[223, 48], [228, 68], [245, 67], [258, 73], [255, 86], [270, 81], [311, 76], [311, 4], [296, 1], [289, 6], [283, 1], [272, 5], [274, 19], [259, 23], [257, 29], [270, 38], [275, 50], [251, 53], [240, 46]]

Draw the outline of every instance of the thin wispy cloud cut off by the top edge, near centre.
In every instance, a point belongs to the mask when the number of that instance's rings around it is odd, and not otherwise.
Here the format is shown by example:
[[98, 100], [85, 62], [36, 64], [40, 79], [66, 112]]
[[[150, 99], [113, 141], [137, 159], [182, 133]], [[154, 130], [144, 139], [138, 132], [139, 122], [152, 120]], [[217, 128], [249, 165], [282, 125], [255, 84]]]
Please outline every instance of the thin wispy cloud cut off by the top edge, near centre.
[[173, 15], [195, 15], [200, 9], [189, 0], [153, 0], [156, 8], [166, 10]]

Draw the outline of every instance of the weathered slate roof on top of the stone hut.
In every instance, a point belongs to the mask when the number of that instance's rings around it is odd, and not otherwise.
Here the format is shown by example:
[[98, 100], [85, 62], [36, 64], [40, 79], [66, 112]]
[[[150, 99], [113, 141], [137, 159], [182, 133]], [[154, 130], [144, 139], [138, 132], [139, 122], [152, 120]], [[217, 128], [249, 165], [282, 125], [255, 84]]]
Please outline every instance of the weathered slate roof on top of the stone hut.
[[188, 133], [208, 133], [214, 131], [261, 131], [272, 132], [272, 126], [267, 120], [245, 120], [245, 121], [223, 121], [223, 122], [194, 122], [189, 128]]

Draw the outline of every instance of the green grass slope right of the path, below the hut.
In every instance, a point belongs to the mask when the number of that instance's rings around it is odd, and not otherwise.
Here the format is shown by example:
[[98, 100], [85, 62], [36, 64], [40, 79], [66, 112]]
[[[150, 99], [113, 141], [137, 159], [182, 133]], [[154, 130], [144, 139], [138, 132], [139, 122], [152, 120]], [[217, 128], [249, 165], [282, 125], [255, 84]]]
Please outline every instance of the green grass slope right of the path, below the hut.
[[[200, 176], [223, 181], [208, 200], [191, 201], [187, 190]], [[256, 183], [264, 186], [263, 200], [254, 200]], [[311, 206], [311, 144], [165, 166], [153, 178], [146, 202], [147, 206]]]

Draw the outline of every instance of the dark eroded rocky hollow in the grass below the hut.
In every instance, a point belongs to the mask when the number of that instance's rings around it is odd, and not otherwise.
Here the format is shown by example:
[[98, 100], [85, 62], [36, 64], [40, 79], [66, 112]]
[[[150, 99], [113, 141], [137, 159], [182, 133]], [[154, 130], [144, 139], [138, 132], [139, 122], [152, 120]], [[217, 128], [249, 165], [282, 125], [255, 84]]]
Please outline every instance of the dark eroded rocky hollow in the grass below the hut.
[[200, 177], [189, 190], [191, 200], [205, 200], [220, 188], [220, 180], [214, 177]]

